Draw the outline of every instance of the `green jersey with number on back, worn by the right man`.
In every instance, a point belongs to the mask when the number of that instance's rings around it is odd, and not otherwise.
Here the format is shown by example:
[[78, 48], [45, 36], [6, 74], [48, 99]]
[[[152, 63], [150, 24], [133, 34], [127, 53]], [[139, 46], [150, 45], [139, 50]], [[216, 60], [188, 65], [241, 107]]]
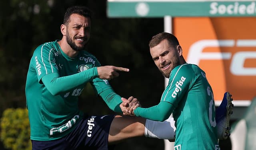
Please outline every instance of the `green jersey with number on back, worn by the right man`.
[[174, 105], [175, 150], [218, 150], [215, 105], [206, 74], [194, 64], [176, 66], [161, 101]]

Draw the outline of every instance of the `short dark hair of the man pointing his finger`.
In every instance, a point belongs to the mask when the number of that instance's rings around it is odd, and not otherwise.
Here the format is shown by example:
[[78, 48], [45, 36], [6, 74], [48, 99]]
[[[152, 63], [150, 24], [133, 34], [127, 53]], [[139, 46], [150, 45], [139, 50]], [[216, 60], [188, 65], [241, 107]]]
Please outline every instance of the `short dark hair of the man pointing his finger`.
[[90, 18], [92, 20], [92, 11], [87, 8], [86, 6], [72, 6], [66, 10], [66, 13], [64, 15], [63, 24], [68, 25], [70, 16], [72, 14], [78, 14], [87, 18]]

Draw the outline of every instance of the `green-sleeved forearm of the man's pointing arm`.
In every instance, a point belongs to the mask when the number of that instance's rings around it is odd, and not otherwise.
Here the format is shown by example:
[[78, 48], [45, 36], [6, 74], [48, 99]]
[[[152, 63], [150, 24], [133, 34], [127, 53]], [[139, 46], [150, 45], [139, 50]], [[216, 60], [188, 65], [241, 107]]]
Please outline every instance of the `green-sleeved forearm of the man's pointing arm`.
[[52, 95], [58, 95], [61, 92], [66, 92], [76, 86], [90, 82], [96, 77], [98, 77], [98, 72], [97, 68], [94, 67], [70, 76], [59, 77], [57, 73], [48, 74], [42, 77], [42, 82]]

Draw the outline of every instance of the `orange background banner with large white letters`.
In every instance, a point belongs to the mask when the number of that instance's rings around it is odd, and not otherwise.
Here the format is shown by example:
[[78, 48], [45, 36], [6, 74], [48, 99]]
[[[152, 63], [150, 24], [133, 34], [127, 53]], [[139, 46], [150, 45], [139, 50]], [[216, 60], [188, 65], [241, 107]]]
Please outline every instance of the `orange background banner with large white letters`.
[[173, 18], [185, 59], [206, 72], [216, 101], [226, 91], [240, 105], [256, 96], [255, 24], [253, 17]]

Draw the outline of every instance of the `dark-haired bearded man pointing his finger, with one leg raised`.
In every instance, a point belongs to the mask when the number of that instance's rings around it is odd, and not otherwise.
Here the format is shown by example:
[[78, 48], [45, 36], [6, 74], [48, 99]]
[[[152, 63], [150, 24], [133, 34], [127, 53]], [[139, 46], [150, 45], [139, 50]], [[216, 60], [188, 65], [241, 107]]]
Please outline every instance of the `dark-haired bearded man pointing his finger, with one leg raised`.
[[173, 118], [158, 122], [80, 111], [78, 96], [88, 82], [113, 111], [122, 113], [120, 107], [135, 109], [140, 103], [122, 103], [108, 83], [128, 68], [101, 66], [85, 51], [91, 29], [88, 8], [68, 8], [60, 29], [62, 39], [40, 45], [30, 60], [25, 93], [33, 150], [107, 150], [108, 144], [143, 135], [174, 139]]

